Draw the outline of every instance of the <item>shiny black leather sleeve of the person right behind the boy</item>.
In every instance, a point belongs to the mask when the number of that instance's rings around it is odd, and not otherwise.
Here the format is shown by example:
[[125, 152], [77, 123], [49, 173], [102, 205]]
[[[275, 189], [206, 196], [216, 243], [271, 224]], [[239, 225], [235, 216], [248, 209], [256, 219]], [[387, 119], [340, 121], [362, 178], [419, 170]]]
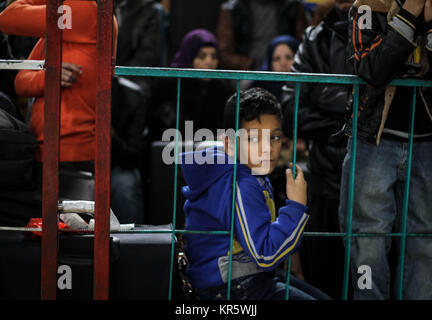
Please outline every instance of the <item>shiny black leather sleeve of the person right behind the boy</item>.
[[[295, 55], [292, 72], [331, 73], [326, 53], [319, 44], [322, 25], [309, 27]], [[311, 40], [312, 39], [312, 40]], [[324, 39], [323, 41], [326, 41]], [[344, 63], [341, 61], [340, 63]], [[348, 87], [321, 83], [302, 83], [300, 87], [297, 134], [302, 139], [327, 140], [340, 130], [345, 116]], [[287, 137], [293, 136], [295, 84], [287, 83], [282, 91], [283, 129]]]

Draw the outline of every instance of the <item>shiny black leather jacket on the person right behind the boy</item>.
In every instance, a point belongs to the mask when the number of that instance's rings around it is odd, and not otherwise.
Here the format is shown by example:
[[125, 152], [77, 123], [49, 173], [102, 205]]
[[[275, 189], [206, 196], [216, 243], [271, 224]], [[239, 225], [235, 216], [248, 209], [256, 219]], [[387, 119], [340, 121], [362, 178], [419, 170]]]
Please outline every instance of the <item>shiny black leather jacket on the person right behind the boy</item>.
[[[334, 8], [317, 26], [309, 27], [295, 55], [292, 72], [351, 74], [346, 46], [348, 17]], [[349, 86], [304, 83], [298, 112], [298, 138], [312, 140], [308, 167], [311, 191], [327, 198], [339, 196], [346, 139], [329, 141], [345, 120]], [[292, 137], [294, 84], [284, 86], [282, 107], [284, 133]]]

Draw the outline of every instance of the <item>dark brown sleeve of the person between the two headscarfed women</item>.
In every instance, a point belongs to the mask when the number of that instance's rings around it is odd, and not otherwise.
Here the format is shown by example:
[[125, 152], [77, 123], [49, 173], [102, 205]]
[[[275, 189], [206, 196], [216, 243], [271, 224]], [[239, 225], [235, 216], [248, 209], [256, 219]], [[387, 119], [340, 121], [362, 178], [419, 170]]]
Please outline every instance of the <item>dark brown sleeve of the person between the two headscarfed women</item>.
[[235, 51], [234, 27], [230, 12], [221, 8], [216, 28], [220, 47], [221, 67], [224, 69], [251, 70], [253, 59]]

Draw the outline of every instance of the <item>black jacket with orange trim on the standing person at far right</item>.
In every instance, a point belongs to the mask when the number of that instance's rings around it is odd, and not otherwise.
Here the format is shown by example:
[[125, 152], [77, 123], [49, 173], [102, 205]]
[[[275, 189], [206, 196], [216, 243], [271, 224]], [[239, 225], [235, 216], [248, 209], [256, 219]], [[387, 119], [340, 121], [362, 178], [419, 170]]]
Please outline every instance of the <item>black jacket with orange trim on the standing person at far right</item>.
[[[371, 1], [373, 6], [374, 2]], [[373, 7], [372, 7], [373, 9]], [[418, 36], [425, 37], [427, 30], [432, 29], [432, 23], [424, 25], [421, 18], [412, 16], [400, 9], [397, 16], [388, 21], [387, 12], [372, 11], [372, 29], [360, 29], [358, 9], [350, 10], [350, 57], [355, 73], [369, 85], [362, 86], [359, 100], [358, 139], [379, 144], [384, 128], [408, 132], [411, 98], [413, 89], [397, 87], [394, 93], [388, 84], [398, 78], [432, 79], [432, 73], [427, 71], [420, 76], [416, 68], [410, 67], [407, 60], [413, 53]], [[398, 18], [401, 16], [402, 18]], [[406, 23], [404, 21], [408, 21]], [[409, 26], [416, 26], [414, 30]], [[411, 34], [411, 35], [410, 35]], [[418, 38], [417, 38], [418, 40]], [[427, 36], [424, 58], [432, 62], [432, 33]], [[427, 71], [427, 72], [426, 72]], [[385, 95], [391, 97], [385, 103]], [[420, 88], [417, 95], [415, 134], [432, 132], [431, 116], [432, 91]], [[383, 116], [387, 114], [388, 116]], [[396, 128], [394, 128], [396, 127]], [[345, 133], [352, 135], [352, 120], [347, 121]]]

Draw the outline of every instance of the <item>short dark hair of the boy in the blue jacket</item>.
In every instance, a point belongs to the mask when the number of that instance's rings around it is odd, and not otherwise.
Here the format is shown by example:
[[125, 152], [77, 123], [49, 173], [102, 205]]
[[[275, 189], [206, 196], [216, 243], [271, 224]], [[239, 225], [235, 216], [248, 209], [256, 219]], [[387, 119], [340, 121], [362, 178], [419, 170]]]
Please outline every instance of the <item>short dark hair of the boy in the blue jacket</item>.
[[[240, 91], [239, 129], [242, 121], [260, 121], [264, 114], [273, 114], [282, 119], [281, 106], [276, 97], [263, 88]], [[236, 127], [237, 93], [228, 98], [225, 104], [224, 129]]]

